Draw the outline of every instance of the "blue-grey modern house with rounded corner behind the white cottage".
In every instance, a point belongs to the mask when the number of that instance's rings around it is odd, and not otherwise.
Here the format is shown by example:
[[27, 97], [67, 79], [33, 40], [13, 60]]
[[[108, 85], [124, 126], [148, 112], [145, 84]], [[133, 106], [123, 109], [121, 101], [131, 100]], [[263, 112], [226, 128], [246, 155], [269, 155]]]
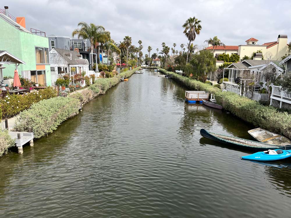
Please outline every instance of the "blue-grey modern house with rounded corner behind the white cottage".
[[[49, 39], [49, 50], [53, 48], [64, 49], [74, 51], [75, 49], [79, 52], [84, 59], [87, 59], [91, 68], [91, 50], [90, 42], [84, 39], [76, 39], [68, 36], [55, 36], [48, 35]], [[93, 64], [97, 62], [97, 49], [93, 50]]]

